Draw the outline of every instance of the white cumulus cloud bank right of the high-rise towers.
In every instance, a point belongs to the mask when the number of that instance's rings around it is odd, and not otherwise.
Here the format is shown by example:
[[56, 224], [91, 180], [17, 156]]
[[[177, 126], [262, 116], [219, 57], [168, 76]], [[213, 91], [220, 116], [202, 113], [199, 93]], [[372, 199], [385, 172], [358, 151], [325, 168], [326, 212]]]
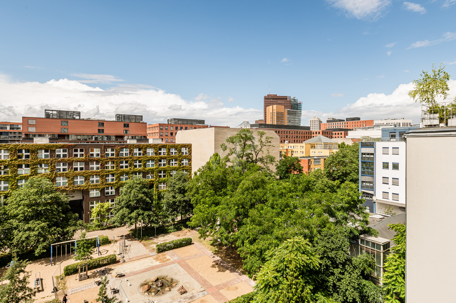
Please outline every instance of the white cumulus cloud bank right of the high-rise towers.
[[[450, 96], [446, 100], [452, 100], [456, 95], [456, 80], [448, 81]], [[326, 121], [328, 117], [345, 119], [347, 117], [360, 117], [362, 119], [380, 120], [384, 118], [412, 119], [414, 124], [420, 123], [421, 105], [410, 100], [407, 94], [413, 89], [413, 83], [399, 85], [394, 92], [370, 93], [366, 97], [359, 98], [355, 103], [332, 112], [305, 110], [302, 112], [302, 123], [305, 124], [310, 118], [316, 116]], [[440, 98], [437, 101], [442, 101]]]

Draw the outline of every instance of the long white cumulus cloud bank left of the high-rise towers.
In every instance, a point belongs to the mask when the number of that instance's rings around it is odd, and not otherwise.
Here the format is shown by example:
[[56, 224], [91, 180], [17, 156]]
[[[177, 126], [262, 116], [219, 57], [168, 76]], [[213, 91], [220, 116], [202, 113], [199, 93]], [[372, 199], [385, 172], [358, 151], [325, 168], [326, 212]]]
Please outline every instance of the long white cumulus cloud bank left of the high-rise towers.
[[[206, 98], [207, 97], [207, 98]], [[0, 119], [19, 122], [22, 116], [43, 117], [45, 109], [76, 110], [83, 118], [114, 120], [116, 113], [143, 115], [147, 123], [168, 118], [199, 118], [211, 125], [236, 126], [254, 121], [262, 109], [226, 107], [219, 100], [200, 94], [187, 101], [181, 96], [139, 84], [109, 89], [89, 86], [76, 80], [14, 82], [0, 75]]]

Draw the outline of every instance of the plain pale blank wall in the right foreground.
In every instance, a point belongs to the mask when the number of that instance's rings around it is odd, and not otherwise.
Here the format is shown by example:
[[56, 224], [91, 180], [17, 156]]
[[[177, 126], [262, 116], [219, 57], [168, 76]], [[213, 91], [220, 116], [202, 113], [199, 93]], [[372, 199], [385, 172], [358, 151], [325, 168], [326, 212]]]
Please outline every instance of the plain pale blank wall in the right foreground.
[[406, 136], [406, 302], [454, 302], [456, 133]]

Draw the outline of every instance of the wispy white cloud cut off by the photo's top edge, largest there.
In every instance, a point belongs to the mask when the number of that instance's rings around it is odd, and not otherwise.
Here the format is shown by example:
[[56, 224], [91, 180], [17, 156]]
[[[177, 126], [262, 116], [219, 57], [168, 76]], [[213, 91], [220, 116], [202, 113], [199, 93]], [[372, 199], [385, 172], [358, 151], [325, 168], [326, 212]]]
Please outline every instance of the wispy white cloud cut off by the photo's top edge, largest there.
[[375, 21], [386, 12], [391, 0], [326, 0], [348, 17]]

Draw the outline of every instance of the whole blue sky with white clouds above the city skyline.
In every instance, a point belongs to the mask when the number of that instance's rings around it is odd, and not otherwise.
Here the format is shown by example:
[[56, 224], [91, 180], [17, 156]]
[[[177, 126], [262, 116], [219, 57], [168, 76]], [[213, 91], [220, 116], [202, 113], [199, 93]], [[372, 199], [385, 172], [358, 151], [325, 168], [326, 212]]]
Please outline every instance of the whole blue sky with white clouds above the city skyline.
[[[393, 95], [432, 62], [456, 73], [455, 10], [456, 0], [3, 1], [0, 118], [53, 104], [109, 118], [109, 103], [150, 123], [187, 115], [235, 126], [262, 117], [270, 84], [303, 102], [304, 119], [418, 123], [407, 87]], [[11, 98], [20, 105], [5, 110]]]

